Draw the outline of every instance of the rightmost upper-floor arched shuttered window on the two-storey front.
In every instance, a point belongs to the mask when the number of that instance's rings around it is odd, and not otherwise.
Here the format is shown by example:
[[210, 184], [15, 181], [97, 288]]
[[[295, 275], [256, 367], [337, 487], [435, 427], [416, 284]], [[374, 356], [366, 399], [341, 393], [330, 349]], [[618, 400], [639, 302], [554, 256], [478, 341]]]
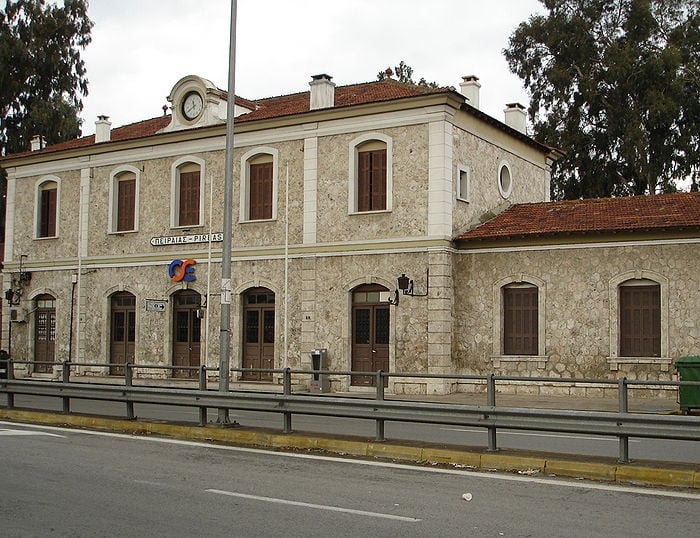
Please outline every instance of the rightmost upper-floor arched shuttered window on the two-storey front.
[[369, 133], [350, 143], [350, 213], [392, 208], [392, 140]]

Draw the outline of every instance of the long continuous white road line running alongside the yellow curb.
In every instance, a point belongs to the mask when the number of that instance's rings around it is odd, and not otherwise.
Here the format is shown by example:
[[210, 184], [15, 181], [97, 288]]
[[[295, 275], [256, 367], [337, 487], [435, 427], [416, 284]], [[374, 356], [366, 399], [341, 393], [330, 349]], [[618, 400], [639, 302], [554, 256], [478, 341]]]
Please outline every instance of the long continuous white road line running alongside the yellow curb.
[[[0, 421], [0, 425], [6, 426], [16, 426], [17, 423], [14, 422], [3, 422]], [[261, 448], [247, 448], [240, 446], [226, 446], [217, 445], [212, 443], [205, 443], [201, 441], [185, 441], [182, 439], [167, 439], [163, 437], [139, 437], [135, 435], [129, 435], [126, 433], [112, 433], [112, 432], [100, 432], [92, 430], [76, 430], [72, 428], [60, 428], [58, 426], [41, 426], [37, 424], [22, 423], [23, 427], [35, 428], [49, 431], [61, 431], [69, 434], [77, 435], [96, 435], [98, 437], [116, 437], [131, 441], [144, 441], [151, 443], [163, 443], [171, 445], [182, 445], [189, 447], [201, 447], [208, 448], [212, 450], [222, 450], [227, 452], [245, 452], [248, 454], [263, 454], [268, 456], [278, 456], [284, 458], [297, 458], [297, 459], [309, 459], [316, 461], [328, 461], [332, 463], [341, 463], [346, 465], [364, 465], [367, 467], [386, 467], [390, 469], [402, 469], [406, 471], [414, 471], [417, 473], [437, 473], [437, 474], [450, 474], [458, 475], [463, 478], [481, 478], [488, 480], [505, 480], [509, 482], [529, 482], [536, 484], [547, 484], [549, 486], [560, 486], [565, 488], [576, 488], [576, 489], [594, 489], [602, 491], [611, 491], [617, 493], [634, 493], [636, 495], [648, 495], [652, 497], [673, 497], [677, 499], [690, 499], [694, 501], [700, 501], [700, 493], [693, 493], [688, 491], [673, 491], [665, 489], [652, 489], [644, 487], [635, 486], [620, 486], [616, 484], [601, 484], [597, 482], [588, 481], [574, 481], [567, 480], [560, 477], [534, 477], [534, 476], [522, 476], [522, 475], [512, 475], [512, 474], [501, 474], [493, 473], [489, 471], [474, 471], [472, 469], [444, 469], [440, 467], [421, 467], [417, 465], [408, 465], [405, 463], [390, 463], [385, 461], [373, 461], [373, 460], [355, 460], [349, 458], [341, 458], [337, 456], [319, 456], [316, 454], [296, 454], [294, 452], [277, 452], [275, 450], [264, 450]]]

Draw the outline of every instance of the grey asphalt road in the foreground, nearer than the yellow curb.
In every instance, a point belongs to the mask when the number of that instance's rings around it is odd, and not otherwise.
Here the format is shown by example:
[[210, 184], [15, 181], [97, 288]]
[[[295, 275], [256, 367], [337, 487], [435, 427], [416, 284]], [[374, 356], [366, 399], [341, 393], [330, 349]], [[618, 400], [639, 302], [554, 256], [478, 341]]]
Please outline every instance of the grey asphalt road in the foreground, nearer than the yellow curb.
[[28, 536], [695, 536], [700, 495], [0, 422]]

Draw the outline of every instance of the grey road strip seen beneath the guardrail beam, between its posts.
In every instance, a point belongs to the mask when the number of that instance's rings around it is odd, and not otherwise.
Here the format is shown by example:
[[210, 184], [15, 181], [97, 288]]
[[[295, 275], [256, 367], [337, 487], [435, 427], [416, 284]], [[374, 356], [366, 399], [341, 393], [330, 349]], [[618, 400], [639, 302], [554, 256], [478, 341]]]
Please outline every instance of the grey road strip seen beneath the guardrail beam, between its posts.
[[[40, 396], [17, 395], [15, 405], [34, 409], [61, 410], [60, 399]], [[77, 413], [125, 416], [124, 405], [116, 402], [73, 400], [71, 410]], [[193, 423], [199, 420], [198, 411], [194, 408], [137, 404], [135, 411], [137, 416], [142, 419]], [[230, 416], [243, 426], [282, 430], [282, 417], [279, 414], [231, 411]], [[210, 409], [209, 421], [216, 421], [216, 418], [216, 410]], [[304, 432], [357, 435], [365, 438], [373, 438], [375, 435], [375, 424], [371, 420], [295, 416], [292, 426], [295, 431]], [[431, 441], [467, 447], [484, 448], [488, 444], [486, 431], [476, 428], [386, 423], [385, 434], [388, 439]], [[500, 448], [608, 457], [617, 457], [619, 448], [616, 437], [507, 430], [499, 430], [498, 446]], [[700, 463], [700, 450], [698, 448], [698, 443], [692, 441], [659, 439], [632, 438], [629, 445], [630, 457], [633, 460], [686, 463]]]

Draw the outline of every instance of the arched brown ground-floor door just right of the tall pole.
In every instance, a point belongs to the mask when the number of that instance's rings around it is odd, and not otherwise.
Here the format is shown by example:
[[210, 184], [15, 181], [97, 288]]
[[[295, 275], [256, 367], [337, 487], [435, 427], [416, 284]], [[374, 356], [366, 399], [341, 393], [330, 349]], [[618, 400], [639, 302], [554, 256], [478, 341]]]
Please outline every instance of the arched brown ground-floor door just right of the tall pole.
[[[243, 296], [243, 368], [275, 364], [275, 294], [253, 288]], [[243, 372], [244, 381], [272, 381], [272, 372]]]

